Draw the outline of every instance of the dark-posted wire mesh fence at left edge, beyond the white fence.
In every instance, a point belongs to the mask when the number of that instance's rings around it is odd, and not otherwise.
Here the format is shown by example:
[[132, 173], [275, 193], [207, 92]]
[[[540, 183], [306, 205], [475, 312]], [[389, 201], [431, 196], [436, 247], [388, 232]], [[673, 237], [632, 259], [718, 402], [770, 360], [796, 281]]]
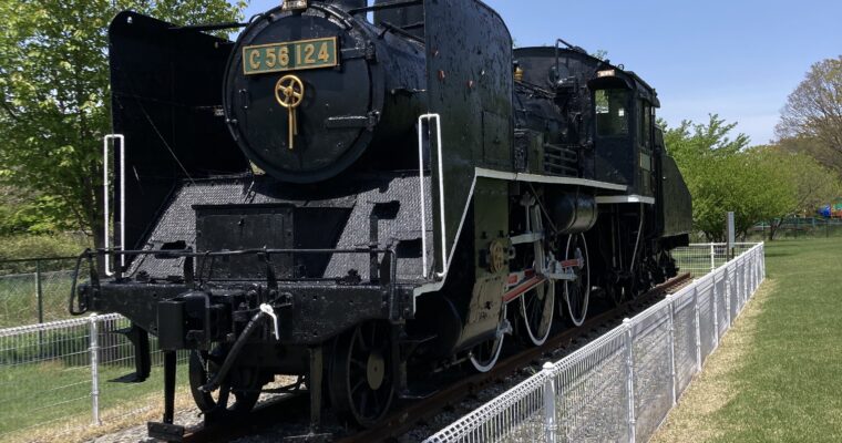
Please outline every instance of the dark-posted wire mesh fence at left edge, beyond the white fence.
[[0, 328], [63, 320], [75, 257], [0, 261]]

